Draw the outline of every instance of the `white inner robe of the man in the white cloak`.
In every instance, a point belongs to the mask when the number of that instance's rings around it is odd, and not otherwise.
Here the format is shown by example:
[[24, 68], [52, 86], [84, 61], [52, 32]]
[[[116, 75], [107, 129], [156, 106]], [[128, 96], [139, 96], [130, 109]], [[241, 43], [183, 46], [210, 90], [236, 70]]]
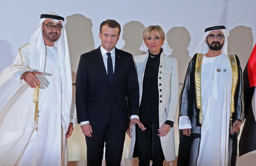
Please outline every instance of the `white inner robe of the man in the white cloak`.
[[20, 166], [62, 165], [62, 146], [65, 150], [66, 145], [65, 133], [62, 133], [62, 84], [57, 56], [57, 48], [47, 46], [46, 68], [39, 90], [38, 131], [33, 132]]

